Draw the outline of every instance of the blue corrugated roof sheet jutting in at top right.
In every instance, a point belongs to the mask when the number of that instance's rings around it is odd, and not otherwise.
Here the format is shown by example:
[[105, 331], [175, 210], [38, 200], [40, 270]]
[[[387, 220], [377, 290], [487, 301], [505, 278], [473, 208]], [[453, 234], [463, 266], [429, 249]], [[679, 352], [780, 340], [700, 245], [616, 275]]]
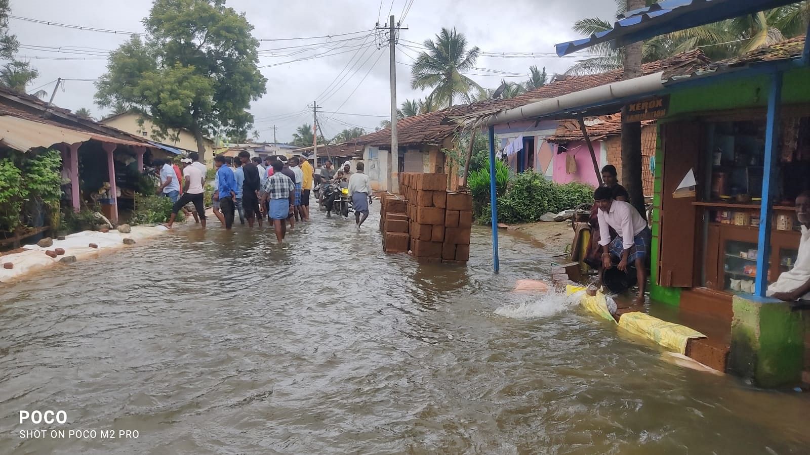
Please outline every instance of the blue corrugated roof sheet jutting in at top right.
[[621, 15], [612, 30], [556, 45], [556, 53], [559, 56], [568, 55], [608, 41], [612, 41], [615, 47], [621, 47], [653, 36], [791, 3], [795, 3], [795, 0], [663, 0]]

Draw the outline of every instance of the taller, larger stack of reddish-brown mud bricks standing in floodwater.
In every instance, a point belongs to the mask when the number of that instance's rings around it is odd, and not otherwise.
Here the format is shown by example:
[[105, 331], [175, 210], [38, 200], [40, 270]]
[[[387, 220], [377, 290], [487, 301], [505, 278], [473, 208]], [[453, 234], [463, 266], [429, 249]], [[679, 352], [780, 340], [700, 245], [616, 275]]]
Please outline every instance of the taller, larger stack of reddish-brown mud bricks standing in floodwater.
[[400, 193], [407, 201], [411, 252], [429, 261], [470, 259], [472, 196], [447, 191], [446, 174], [401, 174]]

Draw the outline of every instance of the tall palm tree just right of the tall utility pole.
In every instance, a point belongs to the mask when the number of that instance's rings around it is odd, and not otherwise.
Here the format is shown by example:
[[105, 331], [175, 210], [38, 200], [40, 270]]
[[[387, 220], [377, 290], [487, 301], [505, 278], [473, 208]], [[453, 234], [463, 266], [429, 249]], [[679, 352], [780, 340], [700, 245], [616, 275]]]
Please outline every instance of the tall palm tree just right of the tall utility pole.
[[441, 28], [436, 41], [425, 40], [427, 52], [420, 53], [411, 67], [411, 87], [433, 89], [428, 96], [436, 104], [449, 108], [454, 100], [470, 101], [470, 92], [480, 88], [464, 74], [475, 66], [480, 49], [467, 50], [467, 38], [455, 28]]

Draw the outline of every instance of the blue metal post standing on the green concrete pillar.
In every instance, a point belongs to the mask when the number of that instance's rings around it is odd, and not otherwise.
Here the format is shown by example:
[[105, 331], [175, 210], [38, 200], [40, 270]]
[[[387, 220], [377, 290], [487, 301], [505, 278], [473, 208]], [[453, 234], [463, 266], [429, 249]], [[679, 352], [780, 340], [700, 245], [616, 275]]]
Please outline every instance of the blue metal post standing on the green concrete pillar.
[[[770, 257], [771, 199], [774, 197], [779, 149], [779, 121], [782, 103], [782, 73], [771, 76], [768, 96], [768, 117], [765, 127], [765, 160], [762, 169], [762, 203], [760, 206], [759, 245], [757, 245], [757, 280], [754, 294], [765, 297], [768, 290], [768, 258]], [[778, 264], [777, 264], [778, 266]]]

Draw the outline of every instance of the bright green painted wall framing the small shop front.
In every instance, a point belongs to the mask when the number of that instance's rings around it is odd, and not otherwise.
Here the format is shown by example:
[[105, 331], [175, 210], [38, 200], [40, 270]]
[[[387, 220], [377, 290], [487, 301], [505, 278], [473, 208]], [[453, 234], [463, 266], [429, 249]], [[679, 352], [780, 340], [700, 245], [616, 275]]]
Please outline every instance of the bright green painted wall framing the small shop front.
[[[785, 104], [810, 103], [810, 69], [798, 68], [784, 73], [782, 102]], [[739, 108], [764, 108], [768, 103], [770, 77], [767, 75], [740, 79], [726, 79], [702, 87], [674, 91], [670, 96], [667, 117], [659, 121], [655, 149], [654, 198], [650, 263], [650, 298], [664, 304], [680, 304], [680, 287], [658, 284], [658, 266], [661, 233], [661, 197], [663, 189], [663, 147], [660, 125], [679, 117]], [[787, 101], [787, 103], [786, 103]]]

